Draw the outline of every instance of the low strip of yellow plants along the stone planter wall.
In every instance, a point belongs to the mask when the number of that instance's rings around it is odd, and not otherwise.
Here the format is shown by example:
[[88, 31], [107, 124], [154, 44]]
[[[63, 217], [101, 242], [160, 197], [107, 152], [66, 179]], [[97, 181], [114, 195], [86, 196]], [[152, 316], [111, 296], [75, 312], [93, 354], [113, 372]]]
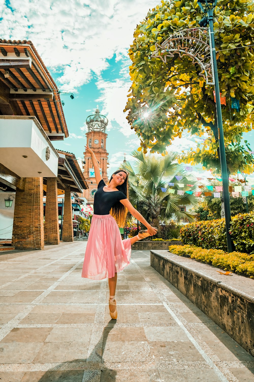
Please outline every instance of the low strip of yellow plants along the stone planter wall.
[[191, 257], [214, 267], [254, 278], [254, 254], [227, 253], [220, 249], [203, 249], [193, 245], [170, 245], [168, 248], [169, 252], [176, 255]]

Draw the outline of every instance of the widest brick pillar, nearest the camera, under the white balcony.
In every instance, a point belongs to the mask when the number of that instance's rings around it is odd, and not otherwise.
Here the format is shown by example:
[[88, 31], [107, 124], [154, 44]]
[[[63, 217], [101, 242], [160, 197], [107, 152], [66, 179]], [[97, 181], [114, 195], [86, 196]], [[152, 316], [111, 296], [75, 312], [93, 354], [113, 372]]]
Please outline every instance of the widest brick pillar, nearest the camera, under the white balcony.
[[43, 178], [26, 178], [25, 191], [16, 191], [12, 244], [43, 249]]

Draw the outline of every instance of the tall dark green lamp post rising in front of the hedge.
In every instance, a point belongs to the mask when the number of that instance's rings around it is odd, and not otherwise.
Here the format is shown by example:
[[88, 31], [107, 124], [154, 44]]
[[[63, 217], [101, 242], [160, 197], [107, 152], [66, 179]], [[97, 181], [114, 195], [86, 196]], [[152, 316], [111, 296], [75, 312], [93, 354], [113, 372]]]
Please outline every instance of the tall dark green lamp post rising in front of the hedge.
[[[203, 8], [203, 5], [204, 8]], [[204, 16], [199, 24], [200, 26], [206, 26], [209, 23], [210, 28], [210, 38], [212, 47], [212, 59], [213, 59], [213, 69], [214, 69], [214, 87], [215, 87], [215, 98], [216, 98], [216, 111], [217, 111], [217, 123], [219, 130], [219, 151], [220, 151], [220, 166], [221, 166], [221, 177], [222, 177], [222, 187], [223, 187], [223, 198], [224, 198], [224, 208], [225, 208], [225, 226], [227, 235], [227, 251], [232, 252], [232, 241], [230, 237], [230, 201], [229, 201], [229, 191], [228, 191], [228, 173], [227, 173], [227, 162], [225, 153], [225, 142], [223, 133], [223, 123], [222, 123], [222, 113], [220, 105], [220, 89], [219, 89], [219, 78], [217, 71], [216, 62], [216, 49], [214, 40], [214, 28], [213, 28], [213, 11], [217, 4], [217, 0], [200, 0], [198, 5], [207, 16]]]

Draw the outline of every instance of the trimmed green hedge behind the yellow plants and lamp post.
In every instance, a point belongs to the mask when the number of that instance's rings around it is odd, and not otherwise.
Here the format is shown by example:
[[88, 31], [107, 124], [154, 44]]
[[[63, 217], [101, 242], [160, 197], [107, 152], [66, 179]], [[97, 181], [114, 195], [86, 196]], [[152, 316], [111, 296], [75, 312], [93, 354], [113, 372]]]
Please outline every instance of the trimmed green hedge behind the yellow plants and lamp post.
[[[254, 212], [232, 217], [230, 235], [236, 251], [254, 253]], [[187, 224], [181, 228], [180, 236], [184, 244], [227, 251], [225, 219]]]

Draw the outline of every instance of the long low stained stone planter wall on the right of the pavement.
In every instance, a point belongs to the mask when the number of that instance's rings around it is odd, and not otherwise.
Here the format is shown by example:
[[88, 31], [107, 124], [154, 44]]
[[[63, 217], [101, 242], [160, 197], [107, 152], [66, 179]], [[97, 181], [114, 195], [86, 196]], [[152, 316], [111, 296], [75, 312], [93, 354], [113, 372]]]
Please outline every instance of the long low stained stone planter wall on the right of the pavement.
[[[254, 280], [169, 251], [150, 251], [151, 266], [254, 356]], [[248, 292], [246, 292], [248, 291]]]

